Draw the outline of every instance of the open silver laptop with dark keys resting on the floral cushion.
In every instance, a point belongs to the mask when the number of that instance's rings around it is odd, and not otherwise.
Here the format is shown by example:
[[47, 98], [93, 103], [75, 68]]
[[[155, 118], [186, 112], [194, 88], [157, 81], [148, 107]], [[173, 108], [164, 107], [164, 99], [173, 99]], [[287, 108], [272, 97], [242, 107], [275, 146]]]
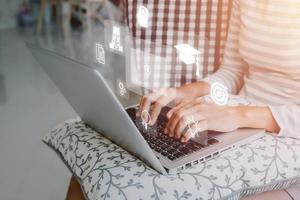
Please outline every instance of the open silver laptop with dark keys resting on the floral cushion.
[[180, 143], [163, 133], [167, 109], [146, 130], [136, 117], [138, 105], [123, 108], [98, 70], [34, 45], [27, 46], [85, 123], [162, 174], [180, 173], [264, 135], [261, 129], [239, 129], [208, 132], [206, 142], [196, 137]]

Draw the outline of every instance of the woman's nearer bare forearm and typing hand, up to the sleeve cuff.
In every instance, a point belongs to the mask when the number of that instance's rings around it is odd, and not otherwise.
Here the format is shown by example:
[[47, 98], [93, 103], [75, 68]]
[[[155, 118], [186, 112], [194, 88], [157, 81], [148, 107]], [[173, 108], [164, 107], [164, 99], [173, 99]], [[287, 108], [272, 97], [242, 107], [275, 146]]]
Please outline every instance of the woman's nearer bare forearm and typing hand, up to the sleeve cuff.
[[[282, 131], [269, 107], [217, 106], [196, 99], [179, 104], [169, 111], [167, 117], [165, 133], [182, 142], [194, 137], [193, 132], [206, 130], [230, 132], [239, 128], [260, 128], [272, 133]], [[193, 128], [186, 129], [187, 123]]]

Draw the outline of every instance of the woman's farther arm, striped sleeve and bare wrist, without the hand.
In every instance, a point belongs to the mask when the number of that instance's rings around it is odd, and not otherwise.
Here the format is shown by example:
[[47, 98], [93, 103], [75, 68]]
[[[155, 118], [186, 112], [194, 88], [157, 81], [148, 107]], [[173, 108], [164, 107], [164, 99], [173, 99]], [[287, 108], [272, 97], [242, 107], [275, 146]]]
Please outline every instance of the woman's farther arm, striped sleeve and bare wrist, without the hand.
[[248, 71], [248, 64], [241, 58], [239, 52], [240, 12], [240, 0], [234, 0], [224, 56], [219, 70], [202, 81], [178, 88], [179, 94], [183, 94], [184, 97], [207, 95], [209, 93], [209, 85], [213, 82], [222, 83], [232, 94], [237, 94], [240, 91], [244, 84], [244, 75]]

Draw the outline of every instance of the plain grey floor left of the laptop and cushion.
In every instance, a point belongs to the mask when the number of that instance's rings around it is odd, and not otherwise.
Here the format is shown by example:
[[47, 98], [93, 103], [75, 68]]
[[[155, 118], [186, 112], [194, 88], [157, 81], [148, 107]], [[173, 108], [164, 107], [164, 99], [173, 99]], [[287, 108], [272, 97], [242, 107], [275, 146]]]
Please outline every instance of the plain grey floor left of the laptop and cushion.
[[0, 199], [64, 199], [71, 176], [41, 139], [76, 114], [25, 46], [32, 40], [0, 32]]

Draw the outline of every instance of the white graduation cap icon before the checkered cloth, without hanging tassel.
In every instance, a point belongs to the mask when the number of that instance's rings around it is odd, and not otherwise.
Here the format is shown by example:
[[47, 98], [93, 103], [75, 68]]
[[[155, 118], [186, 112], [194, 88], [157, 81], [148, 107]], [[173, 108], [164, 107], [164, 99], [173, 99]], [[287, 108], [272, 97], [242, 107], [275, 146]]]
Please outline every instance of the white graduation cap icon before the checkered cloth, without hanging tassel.
[[197, 62], [197, 57], [201, 54], [200, 51], [193, 48], [188, 44], [179, 44], [174, 46], [179, 55], [179, 60], [187, 65], [191, 65]]

